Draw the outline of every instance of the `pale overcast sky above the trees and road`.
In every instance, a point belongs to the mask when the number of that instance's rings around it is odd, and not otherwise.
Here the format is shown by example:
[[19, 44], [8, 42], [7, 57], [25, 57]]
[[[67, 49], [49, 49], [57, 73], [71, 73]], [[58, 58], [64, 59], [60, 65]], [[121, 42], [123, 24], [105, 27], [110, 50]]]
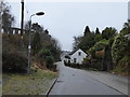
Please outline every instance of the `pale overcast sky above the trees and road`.
[[[16, 18], [15, 27], [21, 27], [21, 0], [16, 2], [6, 0], [11, 5], [11, 12]], [[31, 14], [44, 12], [43, 16], [34, 16], [32, 23], [38, 23], [48, 29], [50, 34], [58, 40], [62, 50], [72, 51], [74, 37], [82, 36], [86, 26], [90, 30], [99, 27], [100, 31], [106, 27], [115, 27], [117, 30], [128, 19], [128, 2], [121, 0], [110, 1], [51, 1], [25, 0], [25, 22]]]

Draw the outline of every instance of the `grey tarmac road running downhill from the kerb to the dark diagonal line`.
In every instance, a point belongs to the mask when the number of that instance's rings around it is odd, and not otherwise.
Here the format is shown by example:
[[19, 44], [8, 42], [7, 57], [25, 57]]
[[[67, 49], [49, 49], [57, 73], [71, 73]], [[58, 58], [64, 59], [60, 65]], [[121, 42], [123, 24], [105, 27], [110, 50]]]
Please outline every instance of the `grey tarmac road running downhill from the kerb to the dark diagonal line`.
[[89, 71], [65, 67], [63, 61], [56, 65], [60, 75], [49, 95], [123, 95], [92, 78]]

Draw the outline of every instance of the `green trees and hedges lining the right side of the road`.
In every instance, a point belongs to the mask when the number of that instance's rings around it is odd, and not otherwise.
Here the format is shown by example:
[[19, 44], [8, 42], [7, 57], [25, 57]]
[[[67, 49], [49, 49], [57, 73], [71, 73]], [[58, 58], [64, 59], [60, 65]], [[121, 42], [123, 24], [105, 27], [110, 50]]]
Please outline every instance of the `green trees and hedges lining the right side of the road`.
[[[74, 37], [74, 52], [83, 50], [89, 56], [82, 63], [83, 69], [129, 74], [130, 65], [130, 20], [118, 32], [114, 27], [90, 31], [86, 27], [83, 36]], [[69, 65], [74, 66], [74, 65]]]

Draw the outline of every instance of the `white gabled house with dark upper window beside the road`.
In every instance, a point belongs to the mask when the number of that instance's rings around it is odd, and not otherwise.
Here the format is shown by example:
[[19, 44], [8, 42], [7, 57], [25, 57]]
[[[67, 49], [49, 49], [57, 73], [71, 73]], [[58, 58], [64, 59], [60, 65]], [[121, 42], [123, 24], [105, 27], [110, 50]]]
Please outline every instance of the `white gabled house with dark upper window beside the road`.
[[70, 56], [70, 63], [81, 65], [83, 61], [83, 58], [86, 58], [87, 56], [88, 55], [82, 50], [79, 48]]

